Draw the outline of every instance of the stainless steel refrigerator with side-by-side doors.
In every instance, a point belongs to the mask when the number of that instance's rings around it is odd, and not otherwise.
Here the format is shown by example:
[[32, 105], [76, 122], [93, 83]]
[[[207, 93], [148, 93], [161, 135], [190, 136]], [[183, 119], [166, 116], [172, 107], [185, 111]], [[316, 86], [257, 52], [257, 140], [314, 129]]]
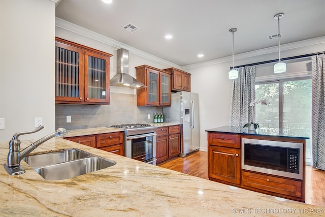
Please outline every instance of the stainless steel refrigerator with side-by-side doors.
[[179, 91], [171, 94], [171, 107], [164, 107], [165, 122], [181, 124], [180, 157], [199, 150], [199, 95], [193, 92]]

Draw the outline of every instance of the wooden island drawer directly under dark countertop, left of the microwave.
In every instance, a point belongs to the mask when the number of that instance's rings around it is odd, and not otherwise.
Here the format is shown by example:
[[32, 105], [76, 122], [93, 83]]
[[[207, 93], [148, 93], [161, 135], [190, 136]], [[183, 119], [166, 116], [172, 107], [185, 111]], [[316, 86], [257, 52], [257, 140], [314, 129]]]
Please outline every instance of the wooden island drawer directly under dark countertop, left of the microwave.
[[240, 136], [222, 133], [209, 133], [208, 142], [210, 145], [223, 147], [240, 148]]

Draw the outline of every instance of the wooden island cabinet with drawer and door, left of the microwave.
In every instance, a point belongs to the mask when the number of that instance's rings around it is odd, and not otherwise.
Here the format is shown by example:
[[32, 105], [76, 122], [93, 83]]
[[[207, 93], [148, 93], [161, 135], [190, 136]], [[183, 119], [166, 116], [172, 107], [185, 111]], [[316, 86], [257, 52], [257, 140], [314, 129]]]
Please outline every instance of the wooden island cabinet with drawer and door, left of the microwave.
[[241, 183], [240, 136], [208, 133], [208, 176], [223, 183]]

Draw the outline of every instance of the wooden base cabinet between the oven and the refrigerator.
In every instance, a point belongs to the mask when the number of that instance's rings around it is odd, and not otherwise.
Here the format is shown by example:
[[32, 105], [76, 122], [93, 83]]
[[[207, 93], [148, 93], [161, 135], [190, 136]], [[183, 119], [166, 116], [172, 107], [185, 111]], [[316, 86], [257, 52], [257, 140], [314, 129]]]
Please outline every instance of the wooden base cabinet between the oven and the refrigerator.
[[156, 164], [174, 159], [180, 154], [180, 125], [156, 130]]

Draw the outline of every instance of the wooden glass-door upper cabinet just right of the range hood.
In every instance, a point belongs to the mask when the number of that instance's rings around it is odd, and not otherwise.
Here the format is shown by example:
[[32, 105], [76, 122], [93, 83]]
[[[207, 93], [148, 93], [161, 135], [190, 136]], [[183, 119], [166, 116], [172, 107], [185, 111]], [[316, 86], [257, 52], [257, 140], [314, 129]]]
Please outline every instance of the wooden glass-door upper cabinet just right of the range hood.
[[139, 66], [137, 80], [147, 87], [137, 89], [137, 106], [170, 106], [171, 74], [150, 66]]

